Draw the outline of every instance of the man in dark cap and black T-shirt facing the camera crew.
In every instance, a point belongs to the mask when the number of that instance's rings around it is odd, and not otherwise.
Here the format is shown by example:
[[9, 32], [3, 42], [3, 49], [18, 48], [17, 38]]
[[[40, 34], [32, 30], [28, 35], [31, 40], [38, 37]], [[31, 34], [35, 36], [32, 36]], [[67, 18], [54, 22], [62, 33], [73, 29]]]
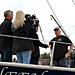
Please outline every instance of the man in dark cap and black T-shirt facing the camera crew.
[[[72, 44], [71, 40], [68, 37], [61, 35], [61, 30], [59, 29], [59, 27], [56, 27], [54, 29], [54, 32], [55, 32], [56, 37], [54, 37], [51, 40], [51, 41], [56, 41], [55, 47], [54, 47], [53, 65], [59, 66], [59, 67], [68, 67], [67, 58], [69, 54], [71, 53], [74, 45]], [[64, 43], [70, 43], [70, 44], [64, 44]], [[51, 55], [53, 42], [50, 42], [49, 44], [51, 45], [50, 47], [51, 49], [50, 55]], [[68, 46], [70, 46], [69, 51], [68, 51]]]

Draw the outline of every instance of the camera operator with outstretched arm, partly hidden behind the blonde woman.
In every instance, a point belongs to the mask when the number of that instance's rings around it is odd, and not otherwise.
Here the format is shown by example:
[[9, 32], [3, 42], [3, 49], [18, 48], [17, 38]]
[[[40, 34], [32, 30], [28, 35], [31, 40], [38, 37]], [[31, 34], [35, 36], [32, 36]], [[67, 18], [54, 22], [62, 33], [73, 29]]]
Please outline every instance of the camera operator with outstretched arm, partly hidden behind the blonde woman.
[[[34, 31], [38, 32], [39, 24], [36, 23], [36, 20], [34, 20], [34, 25], [35, 25]], [[37, 33], [35, 34], [35, 36], [36, 36], [35, 39], [39, 39]], [[39, 57], [40, 57], [39, 47], [49, 48], [50, 45], [43, 44], [42, 42], [40, 42], [40, 40], [38, 40], [38, 41], [35, 40], [34, 41], [34, 47], [35, 47], [35, 49], [32, 52], [30, 64], [38, 65]]]

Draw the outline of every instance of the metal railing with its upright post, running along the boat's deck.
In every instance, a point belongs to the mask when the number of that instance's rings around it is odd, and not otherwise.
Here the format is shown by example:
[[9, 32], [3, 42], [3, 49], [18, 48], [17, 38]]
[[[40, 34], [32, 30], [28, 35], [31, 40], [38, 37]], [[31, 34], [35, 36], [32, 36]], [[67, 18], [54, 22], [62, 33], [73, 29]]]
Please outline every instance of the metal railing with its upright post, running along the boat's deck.
[[[3, 37], [10, 37], [10, 38], [19, 38], [19, 39], [27, 39], [27, 40], [39, 40], [39, 39], [34, 39], [34, 38], [27, 38], [27, 37], [20, 37], [20, 36], [11, 36], [11, 35], [4, 35], [4, 34], [0, 34], [0, 36]], [[43, 41], [43, 40], [40, 40]], [[57, 42], [57, 41], [48, 41], [45, 40], [47, 42], [53, 42], [53, 48], [52, 48], [52, 57], [51, 57], [51, 61], [50, 61], [50, 66], [53, 66], [53, 55], [54, 55], [54, 48], [55, 48], [55, 43], [59, 43], [59, 44], [69, 44], [71, 45], [72, 43], [65, 43], [65, 42]]]

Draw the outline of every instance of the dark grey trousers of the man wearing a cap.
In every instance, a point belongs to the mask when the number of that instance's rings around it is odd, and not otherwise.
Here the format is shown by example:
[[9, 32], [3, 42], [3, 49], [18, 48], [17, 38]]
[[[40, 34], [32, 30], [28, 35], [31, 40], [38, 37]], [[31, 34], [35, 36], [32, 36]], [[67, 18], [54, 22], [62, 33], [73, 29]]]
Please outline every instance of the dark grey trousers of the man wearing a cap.
[[66, 58], [62, 58], [61, 60], [53, 60], [53, 66], [58, 66], [58, 67], [68, 67], [67, 64], [67, 59]]

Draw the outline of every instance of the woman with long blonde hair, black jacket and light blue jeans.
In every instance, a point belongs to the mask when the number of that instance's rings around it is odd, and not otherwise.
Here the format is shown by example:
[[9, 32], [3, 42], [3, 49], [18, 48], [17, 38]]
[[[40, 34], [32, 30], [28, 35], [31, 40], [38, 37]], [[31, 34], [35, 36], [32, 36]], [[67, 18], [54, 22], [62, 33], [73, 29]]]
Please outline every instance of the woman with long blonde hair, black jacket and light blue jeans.
[[[29, 23], [25, 22], [25, 14], [23, 11], [17, 11], [16, 17], [13, 22], [14, 25], [14, 36], [34, 37], [34, 30], [31, 28]], [[13, 52], [17, 55], [17, 62], [29, 64], [31, 58], [31, 52], [34, 49], [32, 40], [25, 39], [13, 39]]]

